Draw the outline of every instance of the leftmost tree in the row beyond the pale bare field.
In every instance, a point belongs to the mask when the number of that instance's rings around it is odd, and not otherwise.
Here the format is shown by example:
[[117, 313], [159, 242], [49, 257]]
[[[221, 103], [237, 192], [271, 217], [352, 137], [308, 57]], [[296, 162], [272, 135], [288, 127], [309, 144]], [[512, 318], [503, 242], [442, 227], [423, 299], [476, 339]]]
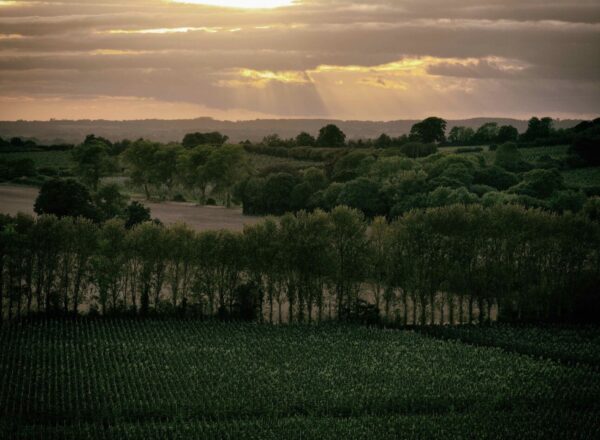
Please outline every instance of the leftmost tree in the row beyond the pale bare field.
[[72, 152], [75, 170], [81, 181], [96, 191], [100, 178], [114, 171], [115, 164], [108, 154], [108, 145], [99, 139], [90, 139]]

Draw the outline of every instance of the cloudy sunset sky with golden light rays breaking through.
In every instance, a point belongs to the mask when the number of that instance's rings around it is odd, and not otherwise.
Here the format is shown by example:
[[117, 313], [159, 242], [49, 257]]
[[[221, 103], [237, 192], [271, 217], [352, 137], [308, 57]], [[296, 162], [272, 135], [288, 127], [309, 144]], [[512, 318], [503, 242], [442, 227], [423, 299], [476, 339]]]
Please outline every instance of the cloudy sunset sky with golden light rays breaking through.
[[0, 119], [591, 118], [598, 0], [0, 0]]

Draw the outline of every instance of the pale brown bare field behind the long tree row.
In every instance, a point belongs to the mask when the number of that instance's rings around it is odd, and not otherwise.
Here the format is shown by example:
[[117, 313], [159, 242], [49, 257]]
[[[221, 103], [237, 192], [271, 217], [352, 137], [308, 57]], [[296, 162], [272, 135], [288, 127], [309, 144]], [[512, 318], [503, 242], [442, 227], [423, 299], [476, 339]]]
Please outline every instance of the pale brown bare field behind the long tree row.
[[[38, 195], [37, 188], [0, 185], [0, 213], [15, 215], [18, 212], [33, 214], [33, 203]], [[192, 203], [154, 203], [140, 200], [152, 210], [152, 217], [165, 224], [186, 223], [201, 231], [228, 229], [241, 231], [246, 224], [260, 221], [260, 217], [249, 217], [241, 209], [226, 209], [213, 206], [196, 206]]]

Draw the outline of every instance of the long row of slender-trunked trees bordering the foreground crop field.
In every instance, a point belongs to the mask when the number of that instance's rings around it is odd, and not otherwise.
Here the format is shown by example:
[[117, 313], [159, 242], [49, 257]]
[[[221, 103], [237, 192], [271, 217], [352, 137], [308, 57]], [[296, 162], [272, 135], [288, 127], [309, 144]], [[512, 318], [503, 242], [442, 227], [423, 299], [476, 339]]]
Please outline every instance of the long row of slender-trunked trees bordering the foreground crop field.
[[388, 223], [347, 207], [243, 233], [0, 217], [0, 316], [84, 311], [398, 324], [598, 319], [600, 224], [453, 205]]

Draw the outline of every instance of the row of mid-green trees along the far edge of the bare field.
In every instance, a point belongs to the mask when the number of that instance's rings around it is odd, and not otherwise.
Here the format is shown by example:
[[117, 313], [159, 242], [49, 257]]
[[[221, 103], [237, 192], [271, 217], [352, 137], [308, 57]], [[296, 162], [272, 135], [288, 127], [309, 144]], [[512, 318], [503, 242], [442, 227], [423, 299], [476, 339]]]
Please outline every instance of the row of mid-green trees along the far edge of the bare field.
[[[200, 139], [203, 138], [204, 140]], [[217, 139], [219, 138], [219, 139]], [[210, 145], [193, 146], [196, 142], [211, 141]], [[186, 136], [184, 145], [151, 142], [112, 144], [90, 135], [72, 151], [75, 173], [95, 194], [103, 177], [129, 175], [131, 182], [142, 188], [146, 198], [166, 190], [172, 195], [176, 186], [189, 190], [204, 204], [209, 190], [231, 203], [231, 188], [249, 171], [242, 147], [220, 145], [226, 137], [219, 133], [193, 133]]]

